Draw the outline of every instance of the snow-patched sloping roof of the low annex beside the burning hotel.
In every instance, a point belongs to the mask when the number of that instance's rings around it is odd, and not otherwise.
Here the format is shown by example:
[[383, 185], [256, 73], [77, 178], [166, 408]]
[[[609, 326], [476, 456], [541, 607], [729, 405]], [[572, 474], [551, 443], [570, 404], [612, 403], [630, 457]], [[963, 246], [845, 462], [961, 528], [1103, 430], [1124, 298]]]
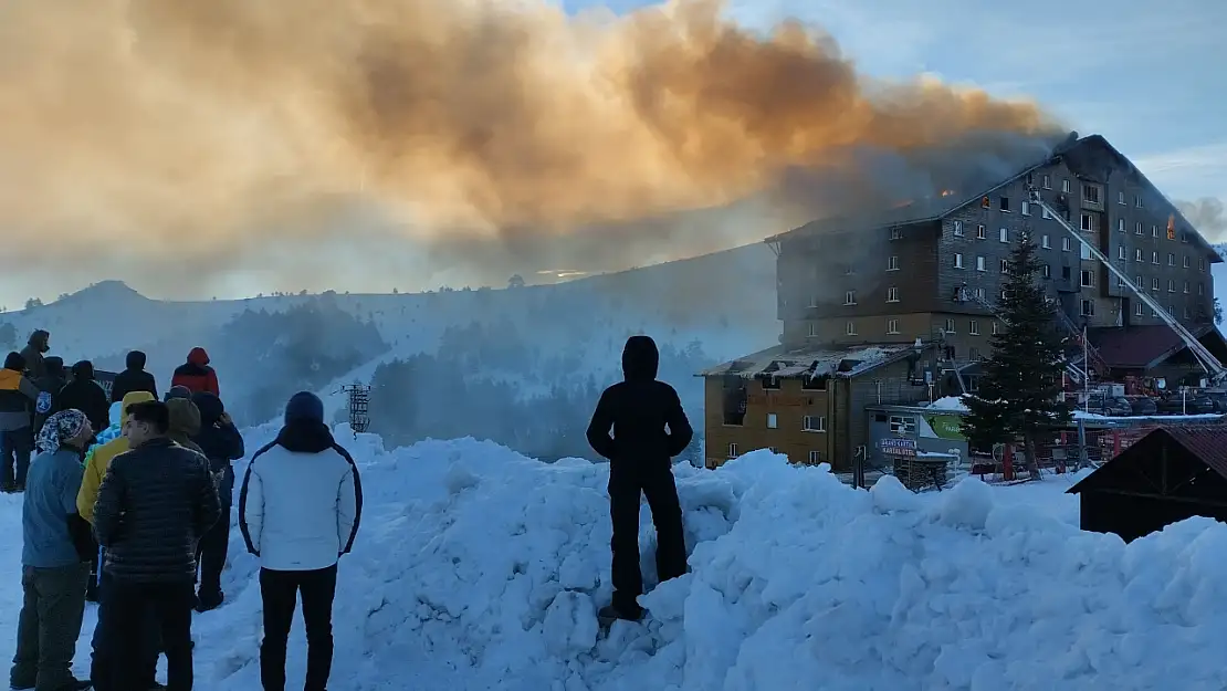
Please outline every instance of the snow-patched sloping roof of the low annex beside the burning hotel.
[[852, 378], [923, 352], [931, 347], [920, 344], [866, 344], [858, 346], [815, 346], [785, 350], [774, 346], [750, 353], [737, 360], [730, 360], [715, 367], [703, 369], [698, 377], [755, 377], [771, 376], [777, 379], [795, 377]]

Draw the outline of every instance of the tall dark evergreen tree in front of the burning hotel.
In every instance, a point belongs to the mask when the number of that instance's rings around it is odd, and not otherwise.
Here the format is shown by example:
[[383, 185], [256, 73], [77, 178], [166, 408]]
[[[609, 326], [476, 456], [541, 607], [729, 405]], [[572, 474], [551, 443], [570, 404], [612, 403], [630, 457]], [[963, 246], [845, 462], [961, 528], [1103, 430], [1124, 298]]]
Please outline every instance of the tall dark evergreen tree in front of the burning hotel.
[[991, 336], [993, 355], [983, 363], [979, 390], [963, 396], [968, 414], [961, 427], [973, 447], [1023, 442], [1027, 469], [1038, 479], [1038, 439], [1071, 419], [1069, 405], [1059, 400], [1065, 338], [1058, 330], [1059, 308], [1037, 281], [1043, 264], [1026, 233], [1006, 268], [996, 307], [1004, 324]]

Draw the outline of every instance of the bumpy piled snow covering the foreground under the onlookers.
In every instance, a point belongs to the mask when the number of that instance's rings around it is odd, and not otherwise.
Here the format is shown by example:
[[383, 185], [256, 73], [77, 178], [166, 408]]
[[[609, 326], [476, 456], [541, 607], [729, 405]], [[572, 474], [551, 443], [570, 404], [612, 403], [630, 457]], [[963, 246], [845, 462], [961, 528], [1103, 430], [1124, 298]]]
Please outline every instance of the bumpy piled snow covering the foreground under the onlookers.
[[[248, 448], [272, 432], [248, 431]], [[913, 495], [892, 477], [856, 491], [766, 450], [679, 468], [692, 573], [644, 598], [650, 622], [599, 641], [606, 468], [472, 439], [384, 453], [372, 436], [337, 434], [362, 465], [366, 506], [341, 562], [334, 691], [1227, 686], [1207, 654], [1227, 637], [1227, 527], [1194, 519], [1129, 546], [1081, 533], [1070, 477]], [[20, 520], [20, 497], [0, 497], [10, 650]], [[234, 530], [228, 601], [195, 619], [196, 689], [259, 689], [255, 576]], [[94, 619], [91, 605], [82, 675]], [[304, 654], [296, 621], [291, 686]]]

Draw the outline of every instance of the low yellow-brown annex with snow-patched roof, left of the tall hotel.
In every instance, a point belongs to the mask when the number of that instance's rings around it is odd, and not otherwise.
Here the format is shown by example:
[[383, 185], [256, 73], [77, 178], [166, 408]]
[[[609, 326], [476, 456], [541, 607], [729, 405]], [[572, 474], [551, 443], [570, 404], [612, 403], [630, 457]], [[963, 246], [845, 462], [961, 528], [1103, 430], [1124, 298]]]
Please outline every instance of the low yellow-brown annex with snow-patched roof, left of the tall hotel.
[[913, 342], [777, 346], [706, 369], [704, 465], [772, 449], [849, 470], [869, 453], [865, 406], [928, 401], [935, 363], [931, 344]]

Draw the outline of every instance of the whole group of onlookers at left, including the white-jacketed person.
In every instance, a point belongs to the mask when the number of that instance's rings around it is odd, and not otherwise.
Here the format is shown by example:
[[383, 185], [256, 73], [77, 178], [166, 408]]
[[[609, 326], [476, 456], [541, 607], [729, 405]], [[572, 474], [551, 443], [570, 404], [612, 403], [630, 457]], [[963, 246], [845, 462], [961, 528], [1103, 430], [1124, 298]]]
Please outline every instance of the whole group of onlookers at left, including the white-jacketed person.
[[[65, 372], [34, 331], [0, 369], [2, 488], [22, 493], [23, 603], [12, 689], [188, 690], [193, 611], [225, 601], [243, 437], [217, 374], [193, 349], [158, 399], [140, 351], [110, 393], [88, 361]], [[307, 625], [307, 691], [324, 691], [333, 659], [336, 565], [357, 534], [362, 490], [314, 394], [290, 399], [277, 438], [252, 454], [238, 524], [260, 560], [260, 676], [285, 689], [297, 598]], [[72, 673], [86, 601], [98, 603], [90, 679]], [[167, 660], [167, 684], [155, 679]]]

